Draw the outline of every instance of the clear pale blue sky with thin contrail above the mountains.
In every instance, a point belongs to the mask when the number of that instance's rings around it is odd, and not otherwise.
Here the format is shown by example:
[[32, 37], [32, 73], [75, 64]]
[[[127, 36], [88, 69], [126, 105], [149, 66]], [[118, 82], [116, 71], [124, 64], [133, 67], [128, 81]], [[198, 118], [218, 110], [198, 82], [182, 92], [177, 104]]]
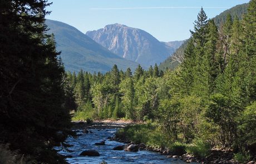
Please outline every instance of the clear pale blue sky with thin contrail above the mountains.
[[120, 23], [143, 29], [159, 41], [190, 37], [203, 7], [208, 18], [249, 0], [48, 0], [47, 19], [70, 24], [83, 33]]

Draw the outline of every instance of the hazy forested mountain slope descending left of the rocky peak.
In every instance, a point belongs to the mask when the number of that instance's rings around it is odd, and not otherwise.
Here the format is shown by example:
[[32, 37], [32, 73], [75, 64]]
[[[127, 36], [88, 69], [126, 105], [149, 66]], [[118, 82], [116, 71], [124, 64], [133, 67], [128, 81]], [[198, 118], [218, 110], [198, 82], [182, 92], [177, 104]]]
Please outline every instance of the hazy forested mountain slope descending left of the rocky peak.
[[46, 25], [50, 28], [48, 33], [55, 34], [57, 50], [61, 51], [66, 71], [78, 72], [83, 69], [91, 73], [105, 73], [114, 64], [124, 71], [128, 67], [132, 70], [137, 67], [138, 63], [117, 56], [75, 27], [49, 19], [46, 20]]

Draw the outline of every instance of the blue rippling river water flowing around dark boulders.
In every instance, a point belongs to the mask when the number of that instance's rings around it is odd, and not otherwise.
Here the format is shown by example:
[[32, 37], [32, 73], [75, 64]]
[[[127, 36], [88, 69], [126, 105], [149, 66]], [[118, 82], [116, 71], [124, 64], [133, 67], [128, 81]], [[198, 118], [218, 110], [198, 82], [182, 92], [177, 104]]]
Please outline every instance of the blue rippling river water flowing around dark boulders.
[[[115, 146], [124, 143], [107, 140], [107, 137], [114, 136], [116, 129], [90, 130], [92, 133], [77, 132], [77, 138], [67, 138], [67, 143], [73, 145], [69, 148], [73, 152], [60, 151], [62, 155], [71, 155], [67, 158], [69, 163], [97, 163], [104, 160], [111, 163], [186, 163], [174, 158], [167, 158], [165, 155], [150, 151], [126, 152], [112, 150]], [[105, 141], [105, 145], [95, 145], [96, 142]], [[79, 156], [82, 151], [96, 150], [100, 153], [98, 157]]]

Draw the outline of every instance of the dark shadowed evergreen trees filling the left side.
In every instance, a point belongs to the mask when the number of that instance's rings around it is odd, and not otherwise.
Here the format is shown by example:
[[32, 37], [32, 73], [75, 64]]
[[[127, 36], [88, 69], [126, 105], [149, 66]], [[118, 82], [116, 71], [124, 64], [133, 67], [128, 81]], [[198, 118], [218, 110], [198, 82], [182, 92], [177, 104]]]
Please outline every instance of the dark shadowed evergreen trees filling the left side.
[[0, 144], [25, 155], [23, 162], [65, 162], [53, 147], [66, 148], [72, 135], [65, 70], [44, 23], [49, 5], [0, 3]]

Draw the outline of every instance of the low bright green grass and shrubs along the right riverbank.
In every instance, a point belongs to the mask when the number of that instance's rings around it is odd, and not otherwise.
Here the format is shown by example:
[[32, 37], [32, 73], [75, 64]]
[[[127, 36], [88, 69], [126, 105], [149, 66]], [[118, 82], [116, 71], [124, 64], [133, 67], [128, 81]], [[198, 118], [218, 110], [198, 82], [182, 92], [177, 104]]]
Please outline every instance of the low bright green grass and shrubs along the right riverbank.
[[207, 156], [210, 153], [210, 145], [203, 140], [195, 140], [190, 145], [182, 142], [171, 142], [163, 133], [157, 123], [144, 123], [130, 125], [116, 133], [116, 137], [129, 140], [134, 143], [145, 143], [147, 146], [168, 148], [177, 155], [189, 152], [195, 156]]

